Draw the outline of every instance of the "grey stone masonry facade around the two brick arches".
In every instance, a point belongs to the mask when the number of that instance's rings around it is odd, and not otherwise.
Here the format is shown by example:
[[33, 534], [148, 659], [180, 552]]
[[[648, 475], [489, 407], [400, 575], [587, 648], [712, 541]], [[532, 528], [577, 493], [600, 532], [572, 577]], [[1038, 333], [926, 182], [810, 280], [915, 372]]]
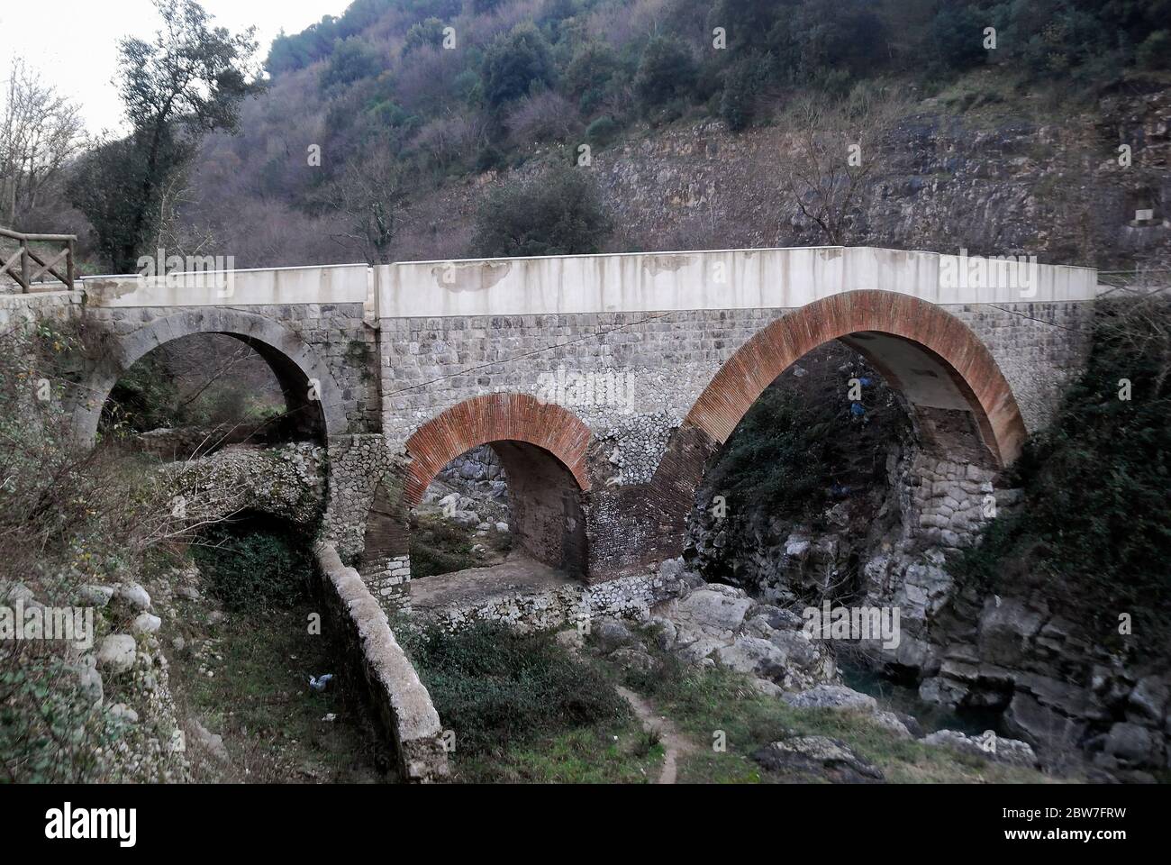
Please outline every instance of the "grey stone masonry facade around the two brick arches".
[[[1088, 304], [947, 306], [984, 341], [1026, 427], [1048, 422], [1086, 350]], [[611, 476], [648, 481], [677, 427], [732, 354], [787, 309], [576, 313], [381, 322], [383, 429], [392, 449], [464, 400], [532, 394], [573, 411], [604, 443]], [[560, 379], [559, 379], [560, 370]], [[598, 404], [583, 374], [629, 374]], [[576, 375], [576, 379], [575, 379]], [[559, 382], [564, 382], [560, 384]], [[552, 386], [552, 388], [550, 388]], [[648, 471], [649, 469], [649, 471]]]

